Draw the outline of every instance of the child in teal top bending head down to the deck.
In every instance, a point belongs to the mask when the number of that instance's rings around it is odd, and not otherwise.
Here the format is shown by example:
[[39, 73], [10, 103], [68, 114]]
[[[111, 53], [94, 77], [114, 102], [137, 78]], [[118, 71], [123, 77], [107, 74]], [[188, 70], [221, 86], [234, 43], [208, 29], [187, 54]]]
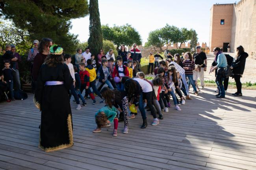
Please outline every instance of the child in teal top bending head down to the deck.
[[97, 124], [97, 128], [93, 130], [93, 132], [101, 132], [102, 127], [111, 126], [110, 123], [114, 122], [113, 136], [117, 136], [118, 118], [116, 116], [117, 108], [114, 106], [105, 106], [98, 110], [98, 112], [95, 114], [95, 122]]

